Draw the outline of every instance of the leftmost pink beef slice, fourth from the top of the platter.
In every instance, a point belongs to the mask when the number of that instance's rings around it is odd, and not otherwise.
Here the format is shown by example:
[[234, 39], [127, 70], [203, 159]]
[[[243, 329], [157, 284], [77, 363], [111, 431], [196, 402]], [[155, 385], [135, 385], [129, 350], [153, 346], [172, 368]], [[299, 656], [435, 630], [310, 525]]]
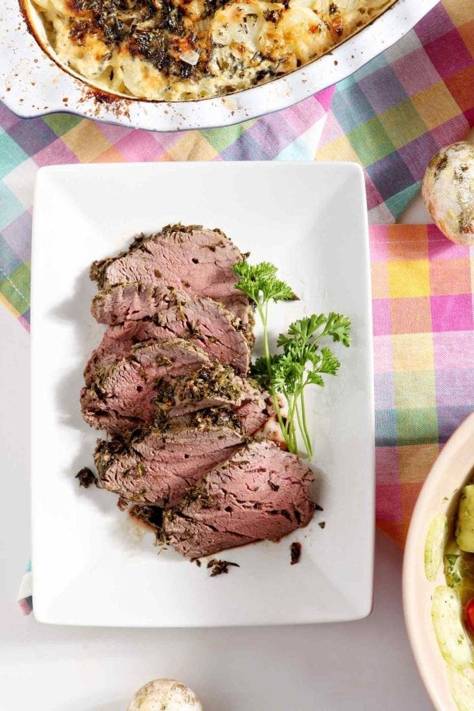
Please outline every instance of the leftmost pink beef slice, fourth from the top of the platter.
[[189, 377], [212, 364], [202, 348], [184, 338], [139, 343], [128, 357], [100, 368], [92, 382], [82, 388], [82, 417], [91, 427], [109, 434], [146, 427], [156, 417], [156, 383], [165, 390], [174, 378], [184, 374]]

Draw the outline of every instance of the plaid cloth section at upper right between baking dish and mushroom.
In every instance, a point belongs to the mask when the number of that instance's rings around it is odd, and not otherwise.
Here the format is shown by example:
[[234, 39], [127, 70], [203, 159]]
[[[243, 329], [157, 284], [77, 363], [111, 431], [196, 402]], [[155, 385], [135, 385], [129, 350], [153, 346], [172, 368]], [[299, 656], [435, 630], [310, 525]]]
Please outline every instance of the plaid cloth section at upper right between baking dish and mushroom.
[[474, 3], [438, 4], [336, 87], [317, 160], [365, 169], [372, 223], [397, 220], [441, 146], [474, 125]]

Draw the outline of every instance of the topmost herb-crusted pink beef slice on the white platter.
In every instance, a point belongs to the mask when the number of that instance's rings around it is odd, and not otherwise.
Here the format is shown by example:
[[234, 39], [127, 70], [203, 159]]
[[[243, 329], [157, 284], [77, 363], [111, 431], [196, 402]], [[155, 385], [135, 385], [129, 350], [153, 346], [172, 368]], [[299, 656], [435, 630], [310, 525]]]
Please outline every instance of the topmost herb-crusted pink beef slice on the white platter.
[[247, 324], [249, 300], [235, 288], [237, 277], [232, 269], [243, 258], [220, 230], [168, 225], [157, 234], [137, 237], [127, 252], [94, 262], [90, 276], [101, 289], [140, 282], [146, 287], [173, 286], [191, 296], [209, 296]]

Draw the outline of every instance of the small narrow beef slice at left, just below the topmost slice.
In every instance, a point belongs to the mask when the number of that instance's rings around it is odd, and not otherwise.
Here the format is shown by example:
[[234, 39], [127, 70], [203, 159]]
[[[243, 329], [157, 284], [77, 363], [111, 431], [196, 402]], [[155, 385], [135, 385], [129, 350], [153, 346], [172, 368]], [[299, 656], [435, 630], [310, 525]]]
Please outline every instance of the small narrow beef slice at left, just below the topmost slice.
[[173, 287], [152, 287], [139, 282], [114, 284], [94, 296], [90, 312], [99, 324], [113, 326], [154, 316], [187, 301], [190, 301], [189, 294]]

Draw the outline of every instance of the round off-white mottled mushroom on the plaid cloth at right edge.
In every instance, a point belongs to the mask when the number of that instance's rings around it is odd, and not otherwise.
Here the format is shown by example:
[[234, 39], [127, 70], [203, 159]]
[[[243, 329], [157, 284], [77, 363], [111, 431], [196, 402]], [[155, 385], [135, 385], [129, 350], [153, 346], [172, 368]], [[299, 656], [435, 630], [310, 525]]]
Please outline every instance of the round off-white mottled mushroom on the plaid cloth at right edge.
[[474, 245], [474, 145], [460, 141], [433, 156], [421, 192], [441, 232], [459, 245]]

